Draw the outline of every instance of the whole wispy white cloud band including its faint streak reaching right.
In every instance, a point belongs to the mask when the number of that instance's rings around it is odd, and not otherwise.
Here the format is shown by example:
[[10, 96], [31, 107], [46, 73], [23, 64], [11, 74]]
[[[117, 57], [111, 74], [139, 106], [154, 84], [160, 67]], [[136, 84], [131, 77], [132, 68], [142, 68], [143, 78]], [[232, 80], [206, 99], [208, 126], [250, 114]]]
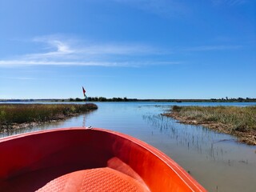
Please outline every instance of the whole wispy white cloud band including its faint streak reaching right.
[[[20, 66], [106, 66], [139, 67], [177, 65], [171, 61], [184, 51], [238, 50], [242, 46], [210, 45], [162, 49], [139, 43], [95, 43], [74, 38], [45, 36], [31, 42], [42, 47], [36, 54], [16, 55], [0, 60], [0, 67]], [[170, 57], [172, 55], [173, 57]]]

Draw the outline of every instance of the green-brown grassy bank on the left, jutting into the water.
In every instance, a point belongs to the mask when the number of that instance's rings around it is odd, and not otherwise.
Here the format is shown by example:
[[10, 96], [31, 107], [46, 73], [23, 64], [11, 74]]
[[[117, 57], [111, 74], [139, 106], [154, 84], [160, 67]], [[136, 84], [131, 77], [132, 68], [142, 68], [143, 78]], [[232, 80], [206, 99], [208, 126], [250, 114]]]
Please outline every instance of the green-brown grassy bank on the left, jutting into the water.
[[16, 124], [50, 122], [96, 110], [94, 104], [6, 104], [0, 105], [0, 130], [10, 129]]

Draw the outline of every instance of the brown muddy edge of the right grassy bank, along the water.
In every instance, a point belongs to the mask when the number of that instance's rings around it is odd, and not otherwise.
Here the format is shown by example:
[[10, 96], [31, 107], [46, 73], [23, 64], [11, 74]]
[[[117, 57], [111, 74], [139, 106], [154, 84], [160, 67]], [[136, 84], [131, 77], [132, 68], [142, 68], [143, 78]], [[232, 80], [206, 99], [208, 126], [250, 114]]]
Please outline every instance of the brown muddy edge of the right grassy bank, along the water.
[[178, 120], [179, 123], [194, 125], [194, 126], [203, 126], [210, 130], [215, 130], [218, 133], [230, 134], [237, 137], [237, 141], [245, 143], [250, 146], [256, 146], [256, 130], [234, 130], [230, 125], [224, 124], [222, 122], [211, 122], [203, 121], [200, 122], [196, 118], [183, 117], [178, 111], [171, 110], [169, 113], [162, 114], [166, 117], [174, 118]]

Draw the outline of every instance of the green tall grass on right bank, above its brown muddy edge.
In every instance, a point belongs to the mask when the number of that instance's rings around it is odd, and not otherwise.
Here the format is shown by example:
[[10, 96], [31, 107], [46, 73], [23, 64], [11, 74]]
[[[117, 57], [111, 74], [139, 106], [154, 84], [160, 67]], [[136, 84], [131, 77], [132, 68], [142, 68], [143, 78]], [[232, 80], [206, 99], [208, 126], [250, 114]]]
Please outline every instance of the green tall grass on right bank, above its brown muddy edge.
[[173, 106], [173, 111], [198, 123], [225, 124], [230, 131], [256, 130], [256, 106]]

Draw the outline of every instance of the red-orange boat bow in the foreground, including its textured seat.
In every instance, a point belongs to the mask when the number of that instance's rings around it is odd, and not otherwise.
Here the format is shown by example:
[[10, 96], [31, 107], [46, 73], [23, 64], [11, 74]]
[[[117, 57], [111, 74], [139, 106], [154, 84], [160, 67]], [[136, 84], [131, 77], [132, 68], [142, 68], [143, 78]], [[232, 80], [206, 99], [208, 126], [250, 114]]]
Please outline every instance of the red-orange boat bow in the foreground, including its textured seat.
[[0, 162], [1, 191], [206, 191], [153, 146], [96, 128], [1, 138]]

